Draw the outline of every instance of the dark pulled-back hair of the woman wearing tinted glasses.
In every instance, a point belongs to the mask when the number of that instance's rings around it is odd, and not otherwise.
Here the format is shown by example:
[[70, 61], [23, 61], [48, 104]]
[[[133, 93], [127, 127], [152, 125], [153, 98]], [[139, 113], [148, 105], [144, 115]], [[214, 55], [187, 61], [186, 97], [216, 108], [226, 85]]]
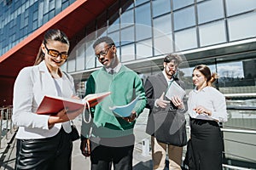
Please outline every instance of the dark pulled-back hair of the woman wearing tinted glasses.
[[[60, 30], [51, 29], [49, 31], [46, 31], [46, 33], [44, 34], [44, 40], [42, 43], [46, 44], [49, 41], [63, 42], [63, 43], [67, 43], [67, 45], [69, 46], [69, 41], [66, 34]], [[38, 56], [35, 60], [34, 65], [39, 65], [39, 63], [41, 63], [43, 60], [44, 60], [44, 52], [40, 46], [38, 51]]]

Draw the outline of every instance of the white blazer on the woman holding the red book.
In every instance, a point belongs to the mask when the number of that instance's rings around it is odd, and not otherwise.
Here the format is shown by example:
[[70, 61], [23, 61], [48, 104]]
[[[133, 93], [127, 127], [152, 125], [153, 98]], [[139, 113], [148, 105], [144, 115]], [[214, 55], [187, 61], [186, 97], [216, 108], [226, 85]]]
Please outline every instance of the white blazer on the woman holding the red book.
[[[75, 94], [73, 77], [62, 74], [63, 97], [70, 98]], [[67, 77], [68, 76], [68, 77]], [[55, 136], [61, 125], [67, 133], [71, 132], [71, 123], [55, 123], [48, 127], [49, 115], [38, 115], [35, 112], [44, 95], [57, 96], [54, 79], [51, 77], [44, 60], [39, 65], [23, 68], [15, 80], [12, 120], [19, 127], [17, 139], [44, 139]]]

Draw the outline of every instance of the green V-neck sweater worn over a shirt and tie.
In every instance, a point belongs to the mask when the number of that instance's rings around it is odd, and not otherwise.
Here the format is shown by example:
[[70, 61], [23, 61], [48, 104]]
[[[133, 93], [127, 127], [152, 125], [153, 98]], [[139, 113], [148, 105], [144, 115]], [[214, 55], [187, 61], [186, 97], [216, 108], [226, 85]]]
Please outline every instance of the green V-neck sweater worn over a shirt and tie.
[[143, 112], [146, 105], [146, 97], [143, 82], [137, 73], [122, 65], [119, 72], [113, 75], [108, 74], [104, 67], [93, 72], [86, 83], [86, 95], [110, 91], [111, 94], [102, 100], [101, 103], [91, 108], [93, 121], [87, 124], [83, 121], [81, 134], [89, 137], [89, 129], [92, 126], [92, 136], [111, 138], [132, 133], [135, 122], [126, 122], [123, 118], [117, 117], [109, 109], [114, 105], [127, 105], [132, 99], [140, 96], [134, 108], [137, 116]]

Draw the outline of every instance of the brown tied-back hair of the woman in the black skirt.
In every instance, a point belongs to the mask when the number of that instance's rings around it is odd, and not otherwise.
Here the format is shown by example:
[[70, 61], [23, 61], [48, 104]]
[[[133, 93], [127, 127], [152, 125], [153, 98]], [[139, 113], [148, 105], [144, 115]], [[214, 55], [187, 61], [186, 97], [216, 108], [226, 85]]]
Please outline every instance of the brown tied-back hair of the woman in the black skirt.
[[193, 71], [195, 70], [200, 71], [207, 78], [207, 86], [212, 86], [212, 83], [218, 78], [217, 73], [211, 73], [207, 65], [196, 65]]

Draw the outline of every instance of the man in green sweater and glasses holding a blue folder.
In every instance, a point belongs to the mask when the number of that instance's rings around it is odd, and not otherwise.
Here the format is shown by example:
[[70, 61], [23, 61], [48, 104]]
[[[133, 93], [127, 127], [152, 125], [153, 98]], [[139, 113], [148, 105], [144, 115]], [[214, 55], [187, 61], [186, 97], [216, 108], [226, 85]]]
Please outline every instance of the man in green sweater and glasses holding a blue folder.
[[[82, 122], [80, 149], [84, 156], [90, 156], [92, 170], [110, 170], [112, 164], [116, 170], [130, 170], [135, 141], [133, 128], [147, 102], [143, 82], [136, 72], [120, 64], [110, 37], [98, 38], [93, 48], [103, 67], [90, 75], [85, 94], [108, 91], [111, 94], [90, 108], [93, 117], [90, 123]], [[109, 109], [114, 105], [127, 105], [137, 96], [131, 116], [119, 117]]]

